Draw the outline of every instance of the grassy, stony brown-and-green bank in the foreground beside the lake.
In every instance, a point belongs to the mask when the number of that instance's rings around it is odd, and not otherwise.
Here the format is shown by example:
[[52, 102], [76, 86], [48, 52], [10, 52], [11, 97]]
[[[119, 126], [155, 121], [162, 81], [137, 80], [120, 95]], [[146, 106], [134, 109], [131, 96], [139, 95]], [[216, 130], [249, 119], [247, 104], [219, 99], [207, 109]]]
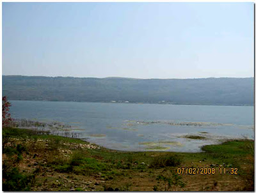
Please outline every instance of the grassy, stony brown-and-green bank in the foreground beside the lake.
[[[253, 190], [254, 141], [227, 141], [203, 150], [113, 151], [80, 139], [3, 128], [3, 190]], [[179, 167], [215, 173], [178, 174]]]

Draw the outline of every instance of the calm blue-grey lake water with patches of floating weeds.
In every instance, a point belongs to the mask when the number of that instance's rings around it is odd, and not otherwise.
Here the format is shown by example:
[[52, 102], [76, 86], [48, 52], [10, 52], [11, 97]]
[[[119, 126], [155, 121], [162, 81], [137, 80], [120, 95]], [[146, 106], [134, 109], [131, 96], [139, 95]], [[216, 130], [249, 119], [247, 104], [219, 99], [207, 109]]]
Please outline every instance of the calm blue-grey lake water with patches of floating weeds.
[[254, 139], [252, 106], [10, 102], [13, 118], [60, 121], [113, 150], [196, 152], [222, 139]]

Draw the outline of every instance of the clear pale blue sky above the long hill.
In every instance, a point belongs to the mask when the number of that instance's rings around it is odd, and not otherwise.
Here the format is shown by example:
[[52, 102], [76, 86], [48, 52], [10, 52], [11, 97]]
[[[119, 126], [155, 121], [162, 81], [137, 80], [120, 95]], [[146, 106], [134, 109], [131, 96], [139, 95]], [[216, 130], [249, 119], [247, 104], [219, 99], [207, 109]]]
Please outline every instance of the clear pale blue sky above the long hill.
[[3, 75], [253, 77], [253, 3], [3, 3]]

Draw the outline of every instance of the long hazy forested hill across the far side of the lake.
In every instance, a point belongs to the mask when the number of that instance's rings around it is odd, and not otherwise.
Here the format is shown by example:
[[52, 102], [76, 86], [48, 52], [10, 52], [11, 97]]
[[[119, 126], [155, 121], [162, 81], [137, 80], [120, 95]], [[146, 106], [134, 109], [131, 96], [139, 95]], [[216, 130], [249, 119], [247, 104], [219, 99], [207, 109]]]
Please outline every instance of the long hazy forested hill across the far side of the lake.
[[253, 78], [128, 79], [3, 75], [8, 100], [253, 105]]

